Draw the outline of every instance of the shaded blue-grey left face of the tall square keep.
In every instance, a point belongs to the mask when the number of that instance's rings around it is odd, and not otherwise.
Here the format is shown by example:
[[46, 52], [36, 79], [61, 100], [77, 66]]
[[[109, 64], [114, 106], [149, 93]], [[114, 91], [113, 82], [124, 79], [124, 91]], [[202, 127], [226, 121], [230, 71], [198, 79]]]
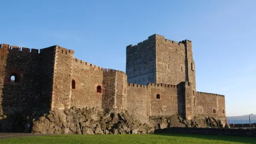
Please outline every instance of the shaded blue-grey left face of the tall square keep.
[[126, 47], [126, 74], [128, 83], [148, 85], [156, 83], [155, 35], [137, 45]]

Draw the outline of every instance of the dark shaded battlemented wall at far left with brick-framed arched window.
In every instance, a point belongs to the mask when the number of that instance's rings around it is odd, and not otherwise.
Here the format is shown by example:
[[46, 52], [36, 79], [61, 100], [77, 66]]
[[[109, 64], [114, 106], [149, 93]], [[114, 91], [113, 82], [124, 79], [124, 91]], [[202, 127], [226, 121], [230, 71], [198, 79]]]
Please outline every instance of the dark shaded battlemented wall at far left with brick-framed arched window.
[[[38, 99], [41, 94], [39, 62], [38, 50], [32, 49], [30, 52], [30, 49], [22, 48], [20, 51], [17, 46], [10, 49], [5, 44], [0, 48], [0, 94], [4, 114], [46, 106], [45, 101]], [[12, 75], [14, 82], [11, 81]]]

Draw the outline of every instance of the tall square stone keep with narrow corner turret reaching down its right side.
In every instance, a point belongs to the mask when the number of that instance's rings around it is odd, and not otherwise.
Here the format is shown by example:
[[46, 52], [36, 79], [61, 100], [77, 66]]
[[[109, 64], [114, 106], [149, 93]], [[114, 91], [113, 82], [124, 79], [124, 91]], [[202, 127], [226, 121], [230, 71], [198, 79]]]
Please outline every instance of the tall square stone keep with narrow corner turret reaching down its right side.
[[186, 117], [196, 112], [195, 62], [190, 40], [176, 42], [154, 34], [135, 46], [127, 46], [126, 74], [128, 83], [179, 84], [183, 87], [179, 95], [185, 101]]

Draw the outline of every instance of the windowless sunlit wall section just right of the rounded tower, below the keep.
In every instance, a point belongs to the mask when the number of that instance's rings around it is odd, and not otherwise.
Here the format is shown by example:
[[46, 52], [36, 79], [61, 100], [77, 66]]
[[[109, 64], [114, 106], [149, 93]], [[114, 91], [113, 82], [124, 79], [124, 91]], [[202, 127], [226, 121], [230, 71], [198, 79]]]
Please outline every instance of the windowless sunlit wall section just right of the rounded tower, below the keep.
[[150, 101], [150, 89], [147, 86], [128, 84], [127, 86], [127, 110], [142, 123], [148, 121]]

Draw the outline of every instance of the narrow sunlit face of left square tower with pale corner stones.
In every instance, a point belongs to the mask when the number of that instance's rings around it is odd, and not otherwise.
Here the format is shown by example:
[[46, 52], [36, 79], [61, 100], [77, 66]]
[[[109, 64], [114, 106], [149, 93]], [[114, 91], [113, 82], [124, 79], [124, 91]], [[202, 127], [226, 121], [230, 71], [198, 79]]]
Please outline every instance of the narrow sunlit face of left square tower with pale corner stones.
[[56, 46], [51, 109], [70, 108], [73, 50]]

